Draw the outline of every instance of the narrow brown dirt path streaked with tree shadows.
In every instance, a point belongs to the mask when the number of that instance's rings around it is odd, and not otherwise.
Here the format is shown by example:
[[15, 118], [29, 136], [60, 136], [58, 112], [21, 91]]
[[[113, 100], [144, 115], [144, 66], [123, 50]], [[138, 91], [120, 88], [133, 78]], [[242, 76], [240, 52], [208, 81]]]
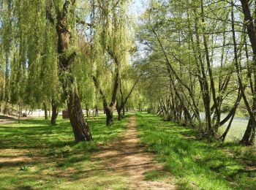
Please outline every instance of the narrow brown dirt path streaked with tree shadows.
[[[129, 129], [121, 139], [115, 140], [95, 159], [101, 159], [105, 167], [118, 175], [127, 176], [130, 189], [176, 189], [170, 181], [145, 180], [146, 172], [163, 170], [161, 164], [154, 161], [154, 155], [146, 153], [139, 145], [137, 137], [136, 118], [129, 118]], [[170, 179], [169, 179], [170, 180]]]

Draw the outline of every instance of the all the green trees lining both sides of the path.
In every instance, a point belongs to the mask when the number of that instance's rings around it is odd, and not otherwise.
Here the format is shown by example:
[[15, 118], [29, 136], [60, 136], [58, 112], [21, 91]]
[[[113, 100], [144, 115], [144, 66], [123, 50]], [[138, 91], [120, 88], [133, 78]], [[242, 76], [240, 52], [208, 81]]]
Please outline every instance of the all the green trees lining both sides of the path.
[[222, 141], [244, 115], [241, 144], [255, 142], [256, 1], [148, 0], [138, 22], [125, 0], [0, 7], [3, 112], [51, 107], [54, 124], [67, 107], [76, 142], [92, 140], [82, 107], [103, 109], [108, 126], [114, 110], [147, 109]]

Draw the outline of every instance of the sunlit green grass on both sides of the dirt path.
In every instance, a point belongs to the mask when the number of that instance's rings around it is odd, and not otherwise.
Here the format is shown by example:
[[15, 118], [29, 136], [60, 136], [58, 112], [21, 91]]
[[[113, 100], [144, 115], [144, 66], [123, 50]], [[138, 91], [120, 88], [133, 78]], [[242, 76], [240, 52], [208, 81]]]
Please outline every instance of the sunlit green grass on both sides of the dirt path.
[[[75, 144], [69, 120], [29, 119], [0, 126], [0, 189], [129, 189], [131, 181], [106, 168], [94, 155], [127, 129], [129, 115], [105, 126], [89, 119], [94, 142]], [[164, 171], [145, 180], [170, 178], [180, 189], [255, 189], [255, 148], [195, 139], [192, 129], [137, 114], [141, 144], [156, 153]], [[104, 159], [104, 158], [102, 158]]]

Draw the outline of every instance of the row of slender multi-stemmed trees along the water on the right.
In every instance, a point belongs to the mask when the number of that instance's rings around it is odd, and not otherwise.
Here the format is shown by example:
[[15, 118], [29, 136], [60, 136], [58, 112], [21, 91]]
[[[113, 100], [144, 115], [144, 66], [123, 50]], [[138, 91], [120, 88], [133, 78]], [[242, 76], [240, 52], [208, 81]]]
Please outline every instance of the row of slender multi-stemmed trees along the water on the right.
[[[238, 113], [255, 141], [256, 2], [150, 1], [138, 28], [149, 111], [225, 140]], [[222, 113], [227, 113], [221, 118]], [[220, 127], [227, 124], [225, 132]]]

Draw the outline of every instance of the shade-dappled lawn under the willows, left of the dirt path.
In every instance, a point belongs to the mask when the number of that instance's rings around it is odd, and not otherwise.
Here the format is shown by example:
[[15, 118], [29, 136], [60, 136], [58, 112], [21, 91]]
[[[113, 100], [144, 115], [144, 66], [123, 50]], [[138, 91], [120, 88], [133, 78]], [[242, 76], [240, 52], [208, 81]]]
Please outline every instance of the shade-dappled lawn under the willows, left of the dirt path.
[[91, 155], [118, 137], [129, 115], [114, 126], [89, 119], [94, 142], [75, 144], [69, 120], [56, 126], [28, 119], [0, 126], [0, 189], [124, 189], [128, 180], [105, 170]]

